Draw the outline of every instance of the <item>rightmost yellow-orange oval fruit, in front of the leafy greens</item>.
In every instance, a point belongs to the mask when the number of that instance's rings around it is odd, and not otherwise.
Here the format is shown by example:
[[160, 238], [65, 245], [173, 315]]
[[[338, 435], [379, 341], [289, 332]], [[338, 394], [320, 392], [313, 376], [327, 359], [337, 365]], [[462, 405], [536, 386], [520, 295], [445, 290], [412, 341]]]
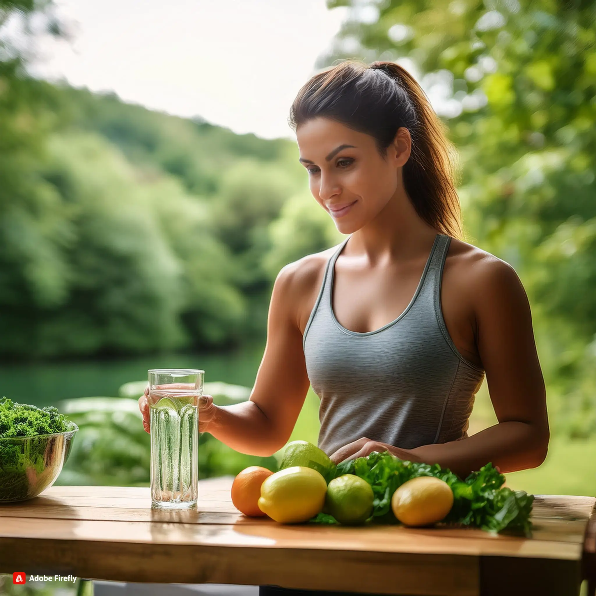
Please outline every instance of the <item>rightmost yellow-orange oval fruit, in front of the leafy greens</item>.
[[453, 491], [434, 476], [418, 476], [404, 482], [393, 493], [391, 508], [406, 526], [428, 526], [440, 522], [453, 506]]

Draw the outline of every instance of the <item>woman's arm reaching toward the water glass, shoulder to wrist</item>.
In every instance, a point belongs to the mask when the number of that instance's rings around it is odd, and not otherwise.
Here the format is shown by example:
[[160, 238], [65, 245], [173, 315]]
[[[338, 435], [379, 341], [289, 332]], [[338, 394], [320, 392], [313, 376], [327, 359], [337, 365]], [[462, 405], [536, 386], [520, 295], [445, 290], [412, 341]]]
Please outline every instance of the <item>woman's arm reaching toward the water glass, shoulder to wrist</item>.
[[215, 406], [206, 427], [235, 451], [268, 456], [287, 443], [308, 392], [309, 379], [298, 326], [304, 296], [299, 262], [286, 265], [274, 283], [265, 353], [249, 401]]

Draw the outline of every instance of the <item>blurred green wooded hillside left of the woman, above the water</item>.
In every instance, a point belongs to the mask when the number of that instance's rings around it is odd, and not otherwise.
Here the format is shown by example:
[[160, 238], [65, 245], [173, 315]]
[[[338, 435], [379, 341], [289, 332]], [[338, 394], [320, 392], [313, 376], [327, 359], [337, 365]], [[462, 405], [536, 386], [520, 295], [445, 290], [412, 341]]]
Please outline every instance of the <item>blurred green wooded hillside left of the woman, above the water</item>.
[[296, 191], [295, 144], [33, 79], [2, 25], [60, 35], [52, 8], [0, 0], [0, 353], [264, 337], [266, 229]]

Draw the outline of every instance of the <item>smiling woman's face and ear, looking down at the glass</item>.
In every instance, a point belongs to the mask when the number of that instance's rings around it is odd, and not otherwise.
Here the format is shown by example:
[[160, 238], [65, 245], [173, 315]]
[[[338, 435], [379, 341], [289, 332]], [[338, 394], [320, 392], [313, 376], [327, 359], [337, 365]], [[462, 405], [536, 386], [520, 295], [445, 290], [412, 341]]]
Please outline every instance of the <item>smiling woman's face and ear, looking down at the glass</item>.
[[372, 221], [396, 195], [398, 185], [403, 185], [398, 169], [410, 153], [406, 129], [399, 129], [386, 160], [372, 136], [326, 118], [300, 125], [296, 138], [311, 193], [342, 234]]

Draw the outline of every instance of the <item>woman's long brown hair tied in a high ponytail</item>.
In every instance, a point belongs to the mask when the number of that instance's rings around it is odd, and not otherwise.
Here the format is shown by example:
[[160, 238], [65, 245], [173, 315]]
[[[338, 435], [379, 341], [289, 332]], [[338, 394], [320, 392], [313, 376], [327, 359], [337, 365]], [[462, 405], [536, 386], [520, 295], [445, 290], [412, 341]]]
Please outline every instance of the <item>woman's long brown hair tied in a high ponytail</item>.
[[454, 148], [423, 89], [405, 69], [395, 62], [368, 66], [346, 60], [316, 74], [298, 92], [288, 122], [295, 132], [316, 117], [373, 136], [383, 159], [405, 126], [412, 137], [411, 156], [403, 166], [406, 193], [427, 224], [462, 239]]

